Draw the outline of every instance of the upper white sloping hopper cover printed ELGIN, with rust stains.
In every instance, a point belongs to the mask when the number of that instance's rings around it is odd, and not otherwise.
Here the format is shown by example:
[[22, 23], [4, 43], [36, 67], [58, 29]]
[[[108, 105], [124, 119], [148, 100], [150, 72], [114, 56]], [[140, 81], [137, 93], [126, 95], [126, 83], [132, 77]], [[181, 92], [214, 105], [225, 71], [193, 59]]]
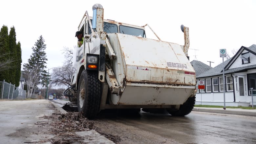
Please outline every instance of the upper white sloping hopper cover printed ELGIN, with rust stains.
[[196, 85], [195, 70], [180, 45], [120, 33], [116, 35], [127, 82]]

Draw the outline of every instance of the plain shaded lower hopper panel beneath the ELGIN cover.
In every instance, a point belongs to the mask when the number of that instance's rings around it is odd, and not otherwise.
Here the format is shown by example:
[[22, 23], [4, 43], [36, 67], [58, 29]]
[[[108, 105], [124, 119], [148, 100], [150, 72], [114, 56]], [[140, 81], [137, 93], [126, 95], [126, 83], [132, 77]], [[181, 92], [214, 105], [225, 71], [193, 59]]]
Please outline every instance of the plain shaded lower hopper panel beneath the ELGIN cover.
[[194, 91], [190, 88], [126, 86], [122, 95], [111, 95], [115, 105], [181, 105]]

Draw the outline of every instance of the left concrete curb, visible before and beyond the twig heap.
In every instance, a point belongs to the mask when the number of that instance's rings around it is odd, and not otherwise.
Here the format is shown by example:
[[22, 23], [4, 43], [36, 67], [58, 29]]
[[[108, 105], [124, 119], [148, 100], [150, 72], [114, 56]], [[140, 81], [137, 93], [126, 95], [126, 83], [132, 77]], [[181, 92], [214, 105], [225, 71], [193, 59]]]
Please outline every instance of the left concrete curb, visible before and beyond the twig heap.
[[[68, 113], [64, 109], [62, 109], [59, 105], [56, 103], [50, 101], [54, 107], [59, 111], [61, 114]], [[113, 141], [107, 139], [105, 136], [99, 134], [95, 130], [90, 130], [90, 131], [84, 131], [84, 132], [76, 132], [77, 135], [79, 136], [84, 136], [85, 139], [83, 142], [88, 143], [88, 144], [98, 144], [98, 143], [104, 143], [104, 144], [115, 144]], [[86, 137], [88, 137], [86, 139]]]

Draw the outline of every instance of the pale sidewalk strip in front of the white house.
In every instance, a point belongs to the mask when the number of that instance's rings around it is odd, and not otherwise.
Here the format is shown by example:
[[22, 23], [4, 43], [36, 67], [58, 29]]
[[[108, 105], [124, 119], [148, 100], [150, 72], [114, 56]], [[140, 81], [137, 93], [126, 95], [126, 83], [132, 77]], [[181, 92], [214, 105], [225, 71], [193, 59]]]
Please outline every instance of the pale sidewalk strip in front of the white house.
[[207, 112], [207, 113], [224, 113], [224, 114], [236, 114], [236, 115], [246, 115], [246, 116], [256, 116], [255, 110], [245, 110], [245, 109], [230, 109], [226, 108], [203, 108], [203, 107], [194, 107], [193, 111], [196, 112]]

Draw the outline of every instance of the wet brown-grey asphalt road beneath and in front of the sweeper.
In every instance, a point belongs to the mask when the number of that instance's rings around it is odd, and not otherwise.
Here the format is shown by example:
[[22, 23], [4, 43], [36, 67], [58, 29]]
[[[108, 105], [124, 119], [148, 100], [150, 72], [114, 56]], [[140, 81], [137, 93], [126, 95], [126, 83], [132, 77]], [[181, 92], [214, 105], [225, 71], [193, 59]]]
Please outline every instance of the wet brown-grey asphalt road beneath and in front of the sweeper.
[[[176, 117], [142, 111], [135, 115], [101, 112], [95, 121], [104, 133], [120, 136], [121, 143], [256, 143], [256, 117], [253, 116], [191, 112]], [[137, 134], [133, 130], [141, 132]], [[136, 136], [127, 136], [132, 134]]]

